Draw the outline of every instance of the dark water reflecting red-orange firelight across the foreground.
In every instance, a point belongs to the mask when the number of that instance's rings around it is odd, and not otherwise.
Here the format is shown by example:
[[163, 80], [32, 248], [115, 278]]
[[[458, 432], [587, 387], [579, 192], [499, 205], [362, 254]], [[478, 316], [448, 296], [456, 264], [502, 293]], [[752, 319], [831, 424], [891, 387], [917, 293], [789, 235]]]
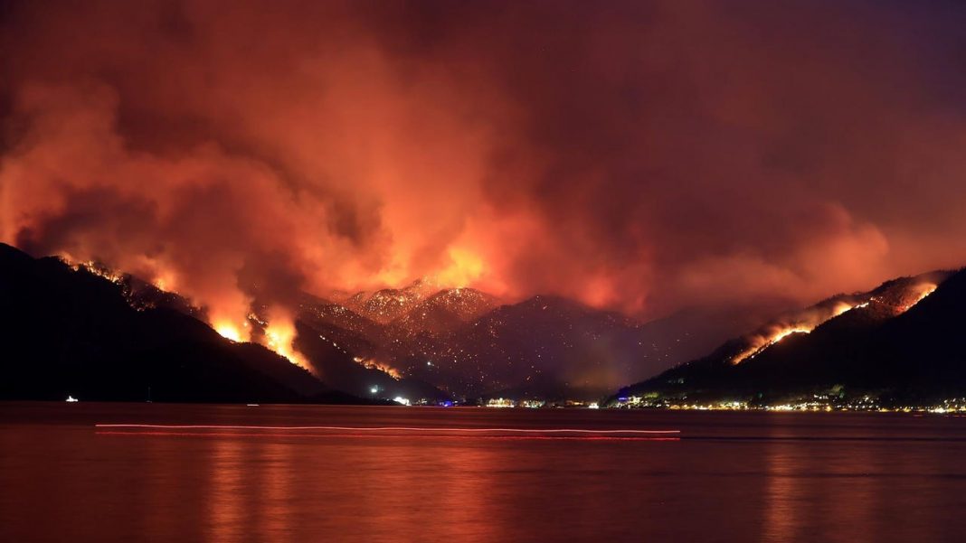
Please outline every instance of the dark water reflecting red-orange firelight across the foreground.
[[0, 403], [0, 541], [963, 541], [964, 453], [949, 416]]

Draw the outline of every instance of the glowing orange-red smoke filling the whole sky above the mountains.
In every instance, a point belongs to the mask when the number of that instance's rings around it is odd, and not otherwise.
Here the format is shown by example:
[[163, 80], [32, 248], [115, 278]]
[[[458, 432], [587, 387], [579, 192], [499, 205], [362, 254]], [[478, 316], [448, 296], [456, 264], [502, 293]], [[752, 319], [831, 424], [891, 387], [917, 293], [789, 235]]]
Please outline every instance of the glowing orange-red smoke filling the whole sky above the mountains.
[[955, 4], [14, 2], [0, 240], [242, 318], [422, 276], [642, 316], [966, 263]]

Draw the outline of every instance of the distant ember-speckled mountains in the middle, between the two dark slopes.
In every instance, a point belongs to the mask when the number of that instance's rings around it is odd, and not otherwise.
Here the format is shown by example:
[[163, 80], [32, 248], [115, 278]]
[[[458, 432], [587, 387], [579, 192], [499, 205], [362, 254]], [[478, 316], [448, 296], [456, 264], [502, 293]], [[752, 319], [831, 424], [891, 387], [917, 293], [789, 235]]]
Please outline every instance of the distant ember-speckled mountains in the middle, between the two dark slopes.
[[[342, 357], [338, 368], [330, 366], [323, 374], [333, 386], [355, 394], [369, 391], [368, 383], [380, 378], [366, 377], [346, 361], [370, 369], [392, 367], [402, 381], [431, 383], [457, 397], [509, 391], [521, 397], [596, 399], [621, 383], [690, 360], [749, 324], [735, 316], [747, 312], [735, 308], [689, 310], [640, 324], [554, 296], [496, 306], [494, 297], [471, 288], [440, 290], [385, 323], [358, 309], [372, 296], [336, 296], [344, 303], [355, 298], [355, 310], [324, 303], [303, 306], [298, 315], [299, 331], [306, 331], [299, 338], [315, 338], [308, 345], [323, 343], [307, 347], [306, 356], [311, 360], [327, 350], [322, 346], [337, 345], [328, 350]], [[349, 382], [336, 377], [347, 374], [355, 377]]]

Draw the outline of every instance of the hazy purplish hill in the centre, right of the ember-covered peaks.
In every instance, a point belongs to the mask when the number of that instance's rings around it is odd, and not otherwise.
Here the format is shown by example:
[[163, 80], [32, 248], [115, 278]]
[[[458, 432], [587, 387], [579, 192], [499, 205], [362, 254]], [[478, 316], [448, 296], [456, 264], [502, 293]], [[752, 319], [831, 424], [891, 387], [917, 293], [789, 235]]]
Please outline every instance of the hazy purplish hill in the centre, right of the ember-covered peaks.
[[[412, 335], [403, 342], [410, 350], [396, 353], [397, 364], [459, 394], [596, 399], [612, 390], [609, 383], [659, 371], [709, 348], [688, 332], [695, 316], [682, 312], [639, 324], [572, 300], [535, 296], [449, 333]], [[733, 330], [709, 336], [721, 340], [727, 333]]]

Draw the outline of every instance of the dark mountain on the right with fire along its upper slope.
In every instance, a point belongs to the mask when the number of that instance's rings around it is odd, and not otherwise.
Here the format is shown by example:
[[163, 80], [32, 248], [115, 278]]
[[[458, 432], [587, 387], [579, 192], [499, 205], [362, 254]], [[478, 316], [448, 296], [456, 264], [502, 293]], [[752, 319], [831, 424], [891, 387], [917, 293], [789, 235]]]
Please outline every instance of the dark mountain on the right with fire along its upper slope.
[[758, 335], [732, 339], [619, 395], [764, 403], [816, 394], [869, 395], [887, 403], [966, 395], [966, 271], [901, 278], [823, 304], [841, 300], [855, 307], [808, 334], [766, 343], [738, 363], [736, 354], [747, 352]]

